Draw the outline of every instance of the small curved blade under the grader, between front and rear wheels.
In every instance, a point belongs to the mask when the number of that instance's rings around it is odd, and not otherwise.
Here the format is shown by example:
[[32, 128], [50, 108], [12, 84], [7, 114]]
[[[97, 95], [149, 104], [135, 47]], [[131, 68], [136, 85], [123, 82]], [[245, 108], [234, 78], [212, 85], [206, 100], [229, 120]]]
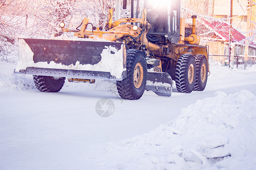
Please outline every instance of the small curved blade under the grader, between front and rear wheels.
[[158, 96], [171, 96], [172, 78], [164, 72], [147, 72], [147, 91], [153, 91]]

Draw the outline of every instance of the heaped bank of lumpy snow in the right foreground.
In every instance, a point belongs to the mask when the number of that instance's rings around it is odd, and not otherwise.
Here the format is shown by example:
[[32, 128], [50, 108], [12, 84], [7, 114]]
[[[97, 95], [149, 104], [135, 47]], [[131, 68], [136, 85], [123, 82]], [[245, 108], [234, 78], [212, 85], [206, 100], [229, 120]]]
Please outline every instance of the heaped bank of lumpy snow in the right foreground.
[[183, 109], [170, 124], [107, 148], [105, 163], [96, 167], [255, 169], [255, 118], [254, 94], [216, 92]]

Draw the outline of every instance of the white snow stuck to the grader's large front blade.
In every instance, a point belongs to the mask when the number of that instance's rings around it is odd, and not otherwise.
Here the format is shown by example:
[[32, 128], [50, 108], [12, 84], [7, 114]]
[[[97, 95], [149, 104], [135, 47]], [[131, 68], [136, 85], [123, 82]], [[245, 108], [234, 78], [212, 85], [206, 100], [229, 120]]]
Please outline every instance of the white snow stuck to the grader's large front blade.
[[[93, 40], [92, 40], [93, 41]], [[109, 72], [111, 75], [115, 76], [117, 79], [121, 79], [123, 71], [123, 45], [121, 49], [117, 50], [114, 46], [105, 46], [101, 53], [101, 61], [96, 65], [82, 65], [79, 61], [75, 65], [63, 65], [62, 63], [55, 63], [51, 61], [47, 62], [37, 62], [33, 60], [34, 53], [28, 46], [28, 44], [23, 40], [19, 39], [19, 61], [16, 66], [16, 71], [26, 70], [27, 67], [42, 67], [47, 69], [71, 69], [71, 70], [88, 70], [88, 71], [104, 71]]]

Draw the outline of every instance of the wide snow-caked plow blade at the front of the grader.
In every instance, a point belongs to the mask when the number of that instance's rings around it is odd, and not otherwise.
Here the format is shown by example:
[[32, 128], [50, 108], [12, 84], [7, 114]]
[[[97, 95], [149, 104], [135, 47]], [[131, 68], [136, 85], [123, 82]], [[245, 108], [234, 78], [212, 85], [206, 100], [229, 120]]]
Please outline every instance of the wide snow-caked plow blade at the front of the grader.
[[123, 42], [19, 39], [14, 73], [68, 78], [125, 78]]

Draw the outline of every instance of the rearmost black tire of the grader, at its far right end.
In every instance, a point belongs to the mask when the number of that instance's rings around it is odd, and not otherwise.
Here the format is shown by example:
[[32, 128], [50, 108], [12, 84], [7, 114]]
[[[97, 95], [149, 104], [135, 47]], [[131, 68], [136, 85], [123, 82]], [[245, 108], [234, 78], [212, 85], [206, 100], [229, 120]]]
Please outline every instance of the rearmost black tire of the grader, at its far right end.
[[193, 90], [203, 91], [208, 79], [208, 62], [203, 54], [196, 54], [194, 57], [196, 60], [196, 83]]

